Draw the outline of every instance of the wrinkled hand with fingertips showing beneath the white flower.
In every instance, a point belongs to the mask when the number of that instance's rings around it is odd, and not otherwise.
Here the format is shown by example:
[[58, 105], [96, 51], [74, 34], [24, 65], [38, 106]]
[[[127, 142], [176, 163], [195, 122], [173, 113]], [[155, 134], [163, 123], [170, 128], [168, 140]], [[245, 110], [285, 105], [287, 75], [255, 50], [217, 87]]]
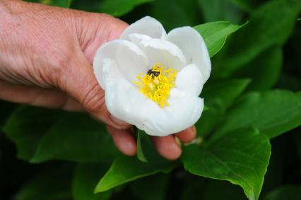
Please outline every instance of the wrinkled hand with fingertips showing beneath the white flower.
[[[0, 18], [0, 99], [88, 112], [107, 124], [122, 153], [135, 155], [131, 125], [107, 111], [91, 66], [98, 47], [119, 37], [127, 24], [105, 14], [12, 0], [0, 0]], [[181, 155], [175, 136], [189, 142], [196, 130], [152, 137], [170, 160]]]

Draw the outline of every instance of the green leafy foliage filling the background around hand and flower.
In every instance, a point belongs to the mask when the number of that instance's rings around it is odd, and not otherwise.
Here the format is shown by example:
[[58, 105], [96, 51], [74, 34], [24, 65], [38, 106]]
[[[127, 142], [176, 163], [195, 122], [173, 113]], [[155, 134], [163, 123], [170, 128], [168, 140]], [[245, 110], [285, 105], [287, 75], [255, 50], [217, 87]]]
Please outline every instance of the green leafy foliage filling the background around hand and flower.
[[30, 1], [194, 26], [212, 57], [209, 110], [169, 162], [143, 132], [129, 158], [87, 114], [1, 101], [0, 199], [301, 199], [300, 0]]

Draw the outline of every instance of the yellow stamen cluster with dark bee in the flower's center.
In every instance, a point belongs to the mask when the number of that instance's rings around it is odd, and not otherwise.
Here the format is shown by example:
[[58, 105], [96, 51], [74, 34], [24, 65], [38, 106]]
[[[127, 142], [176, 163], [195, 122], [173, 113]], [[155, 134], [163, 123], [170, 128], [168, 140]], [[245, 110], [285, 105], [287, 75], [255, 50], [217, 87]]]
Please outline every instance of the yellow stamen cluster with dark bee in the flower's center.
[[170, 90], [175, 87], [177, 70], [164, 69], [163, 64], [154, 64], [153, 69], [148, 70], [146, 74], [139, 73], [134, 83], [139, 91], [147, 98], [157, 102], [160, 107], [168, 106]]

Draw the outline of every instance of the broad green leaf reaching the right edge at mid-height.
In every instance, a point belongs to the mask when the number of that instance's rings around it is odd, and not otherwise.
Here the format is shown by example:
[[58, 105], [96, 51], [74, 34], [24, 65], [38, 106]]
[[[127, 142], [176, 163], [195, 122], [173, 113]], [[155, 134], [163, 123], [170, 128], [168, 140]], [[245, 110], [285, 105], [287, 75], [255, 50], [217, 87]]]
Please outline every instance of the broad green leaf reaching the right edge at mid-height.
[[301, 93], [285, 90], [248, 93], [225, 115], [214, 137], [243, 127], [256, 127], [273, 138], [300, 126], [300, 110]]

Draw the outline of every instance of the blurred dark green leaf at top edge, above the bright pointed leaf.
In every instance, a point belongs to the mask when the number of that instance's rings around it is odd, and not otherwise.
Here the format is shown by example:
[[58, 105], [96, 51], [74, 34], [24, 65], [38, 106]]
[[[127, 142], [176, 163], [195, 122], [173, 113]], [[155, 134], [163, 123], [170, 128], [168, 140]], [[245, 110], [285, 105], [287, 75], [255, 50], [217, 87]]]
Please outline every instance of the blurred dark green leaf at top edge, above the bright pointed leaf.
[[231, 23], [240, 23], [242, 11], [230, 0], [198, 0], [206, 22], [227, 20]]

